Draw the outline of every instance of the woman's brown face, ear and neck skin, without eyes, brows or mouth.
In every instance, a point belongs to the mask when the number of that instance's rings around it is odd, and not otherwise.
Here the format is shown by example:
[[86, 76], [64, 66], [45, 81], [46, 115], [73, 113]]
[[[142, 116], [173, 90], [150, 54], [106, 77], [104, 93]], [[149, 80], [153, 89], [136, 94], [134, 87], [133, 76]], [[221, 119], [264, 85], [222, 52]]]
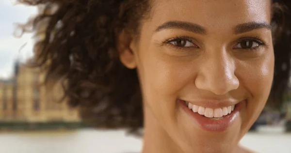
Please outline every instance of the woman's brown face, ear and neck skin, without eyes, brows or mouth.
[[[143, 153], [247, 152], [238, 142], [269, 96], [274, 50], [270, 29], [235, 34], [234, 27], [270, 23], [271, 0], [153, 0], [151, 5], [139, 39], [128, 48], [119, 47], [124, 65], [138, 70], [145, 119]], [[206, 34], [178, 28], [156, 32], [168, 21], [201, 25]], [[163, 43], [177, 36], [191, 38], [196, 46]], [[259, 37], [265, 45], [253, 50], [234, 48], [244, 37]], [[246, 99], [247, 105], [226, 131], [209, 132], [191, 121], [176, 105], [177, 99]]]

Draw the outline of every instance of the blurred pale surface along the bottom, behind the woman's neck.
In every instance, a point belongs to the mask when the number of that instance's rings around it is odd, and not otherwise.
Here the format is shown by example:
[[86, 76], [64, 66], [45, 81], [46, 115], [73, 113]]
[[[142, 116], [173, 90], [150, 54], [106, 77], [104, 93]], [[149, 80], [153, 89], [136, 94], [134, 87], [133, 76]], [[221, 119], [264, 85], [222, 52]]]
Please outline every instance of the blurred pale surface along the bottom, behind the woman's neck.
[[[247, 133], [241, 144], [258, 153], [291, 153], [291, 134], [262, 128]], [[124, 130], [0, 133], [0, 153], [139, 153], [141, 148], [141, 138]]]

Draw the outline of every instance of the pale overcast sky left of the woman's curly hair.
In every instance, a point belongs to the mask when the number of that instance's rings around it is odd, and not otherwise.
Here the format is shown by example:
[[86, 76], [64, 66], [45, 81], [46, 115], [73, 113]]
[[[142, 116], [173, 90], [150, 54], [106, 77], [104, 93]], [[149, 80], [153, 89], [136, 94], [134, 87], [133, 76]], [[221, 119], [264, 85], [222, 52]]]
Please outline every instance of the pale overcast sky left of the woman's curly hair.
[[[13, 32], [15, 23], [25, 23], [35, 13], [35, 7], [15, 5], [15, 0], [0, 0], [0, 79], [11, 76], [16, 59], [25, 61], [32, 56], [32, 35], [15, 38]], [[19, 51], [25, 43], [27, 45]]]

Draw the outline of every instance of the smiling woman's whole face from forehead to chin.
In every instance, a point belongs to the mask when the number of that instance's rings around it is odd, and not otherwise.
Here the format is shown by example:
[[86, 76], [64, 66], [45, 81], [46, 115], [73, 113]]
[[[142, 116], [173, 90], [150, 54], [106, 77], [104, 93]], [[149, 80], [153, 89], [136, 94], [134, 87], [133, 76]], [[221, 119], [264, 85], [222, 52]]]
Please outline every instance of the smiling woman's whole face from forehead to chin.
[[164, 131], [186, 153], [234, 149], [272, 85], [271, 0], [151, 5], [131, 45], [146, 127]]

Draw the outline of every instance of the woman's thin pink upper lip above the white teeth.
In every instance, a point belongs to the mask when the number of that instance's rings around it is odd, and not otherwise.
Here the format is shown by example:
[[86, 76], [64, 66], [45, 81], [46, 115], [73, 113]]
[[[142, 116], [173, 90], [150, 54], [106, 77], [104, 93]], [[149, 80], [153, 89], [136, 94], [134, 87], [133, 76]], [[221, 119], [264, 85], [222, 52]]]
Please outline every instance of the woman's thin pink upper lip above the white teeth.
[[[181, 100], [183, 100], [183, 99], [181, 99]], [[229, 99], [229, 100], [213, 100], [213, 99], [210, 99], [210, 100], [194, 100], [194, 101], [183, 100], [183, 101], [189, 102], [189, 103], [191, 103], [193, 105], [215, 109], [215, 108], [233, 106], [233, 105], [236, 105], [236, 104], [242, 102], [243, 100], [233, 100], [233, 99]]]

